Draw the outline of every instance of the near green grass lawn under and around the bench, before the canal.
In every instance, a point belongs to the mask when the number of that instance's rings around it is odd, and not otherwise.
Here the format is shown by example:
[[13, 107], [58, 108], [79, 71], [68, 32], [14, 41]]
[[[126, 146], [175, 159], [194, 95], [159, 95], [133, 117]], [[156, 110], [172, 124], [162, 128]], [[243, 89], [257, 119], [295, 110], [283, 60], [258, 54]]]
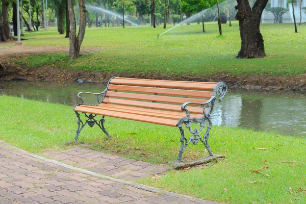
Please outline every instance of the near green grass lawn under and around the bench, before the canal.
[[[72, 107], [16, 97], [0, 97], [0, 139], [40, 153], [67, 148], [77, 127]], [[150, 163], [174, 161], [179, 130], [174, 127], [106, 118], [113, 140], [88, 126], [80, 140], [93, 149]], [[226, 203], [305, 203], [306, 140], [240, 128], [213, 126], [210, 145], [225, 154], [212, 166], [171, 171], [140, 183]], [[266, 148], [265, 150], [257, 148]], [[183, 160], [202, 157], [203, 145], [188, 146]], [[292, 190], [290, 190], [292, 188]], [[291, 191], [291, 192], [290, 192]]]

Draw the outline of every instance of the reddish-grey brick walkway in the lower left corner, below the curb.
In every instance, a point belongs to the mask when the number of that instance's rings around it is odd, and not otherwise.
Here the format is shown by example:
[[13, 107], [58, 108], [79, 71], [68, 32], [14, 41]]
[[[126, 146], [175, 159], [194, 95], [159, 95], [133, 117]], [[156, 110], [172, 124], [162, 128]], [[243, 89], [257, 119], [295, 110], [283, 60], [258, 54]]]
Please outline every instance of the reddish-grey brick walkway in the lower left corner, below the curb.
[[0, 143], [1, 204], [215, 203], [142, 190], [29, 155]]

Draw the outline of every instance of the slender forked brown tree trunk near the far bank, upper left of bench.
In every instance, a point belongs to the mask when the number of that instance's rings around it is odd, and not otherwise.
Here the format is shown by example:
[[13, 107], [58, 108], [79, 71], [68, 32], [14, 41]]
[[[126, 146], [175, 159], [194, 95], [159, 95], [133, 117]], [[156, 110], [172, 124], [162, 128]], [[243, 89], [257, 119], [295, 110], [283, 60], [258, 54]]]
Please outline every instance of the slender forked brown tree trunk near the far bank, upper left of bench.
[[75, 60], [80, 55], [80, 48], [85, 36], [86, 27], [86, 8], [84, 0], [79, 0], [80, 8], [80, 28], [77, 36], [77, 23], [75, 22], [75, 15], [73, 11], [73, 0], [68, 0], [69, 19], [71, 23], [71, 29], [69, 34], [69, 60]]

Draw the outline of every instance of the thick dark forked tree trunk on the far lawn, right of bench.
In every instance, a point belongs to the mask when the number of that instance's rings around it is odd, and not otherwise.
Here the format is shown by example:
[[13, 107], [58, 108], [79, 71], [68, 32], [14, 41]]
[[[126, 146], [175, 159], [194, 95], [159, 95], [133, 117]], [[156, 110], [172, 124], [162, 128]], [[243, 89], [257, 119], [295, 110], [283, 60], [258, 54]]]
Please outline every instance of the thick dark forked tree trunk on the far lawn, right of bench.
[[260, 33], [260, 20], [268, 0], [257, 0], [251, 9], [247, 0], [237, 0], [236, 20], [239, 21], [241, 48], [237, 58], [266, 57], [263, 36]]

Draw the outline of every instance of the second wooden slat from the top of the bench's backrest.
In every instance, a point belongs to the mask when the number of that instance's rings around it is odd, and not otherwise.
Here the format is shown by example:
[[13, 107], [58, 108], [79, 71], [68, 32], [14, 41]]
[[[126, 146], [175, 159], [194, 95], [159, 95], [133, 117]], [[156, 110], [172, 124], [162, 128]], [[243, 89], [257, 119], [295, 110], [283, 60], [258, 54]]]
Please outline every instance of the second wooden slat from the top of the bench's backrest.
[[202, 98], [212, 97], [211, 91], [125, 86], [125, 85], [114, 85], [114, 84], [110, 84], [108, 87], [108, 90], [132, 91], [132, 92], [143, 92], [143, 93], [158, 93], [158, 94], [166, 94], [166, 95], [179, 95], [179, 96], [202, 97]]

